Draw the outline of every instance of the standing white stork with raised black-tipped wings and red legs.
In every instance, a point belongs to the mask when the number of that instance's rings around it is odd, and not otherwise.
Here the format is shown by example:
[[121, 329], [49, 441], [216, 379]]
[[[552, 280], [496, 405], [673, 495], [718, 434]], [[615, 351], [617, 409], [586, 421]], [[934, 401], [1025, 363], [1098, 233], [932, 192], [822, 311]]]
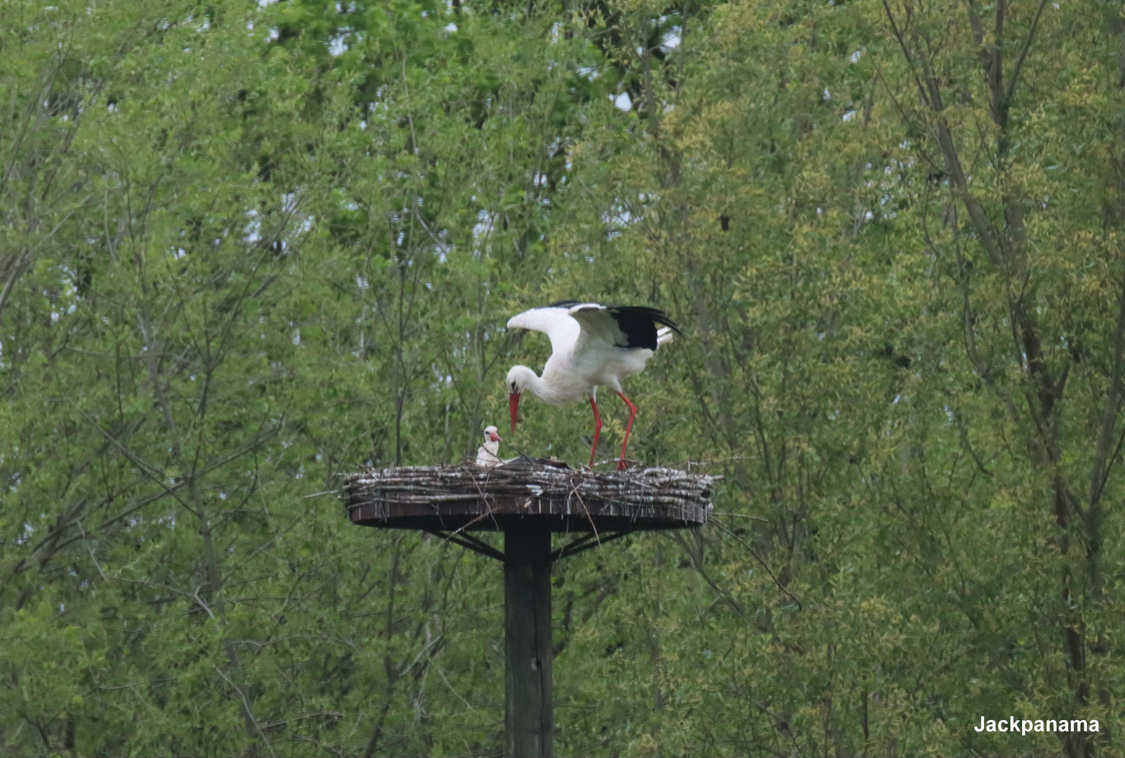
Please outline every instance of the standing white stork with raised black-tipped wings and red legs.
[[597, 437], [602, 433], [602, 416], [597, 413], [597, 387], [610, 387], [629, 406], [629, 423], [621, 443], [618, 470], [626, 467], [626, 448], [634, 406], [621, 390], [621, 381], [645, 370], [645, 362], [656, 349], [669, 342], [680, 328], [667, 314], [645, 306], [605, 306], [596, 303], [559, 300], [542, 308], [512, 316], [508, 328], [542, 332], [551, 340], [551, 357], [543, 376], [525, 366], [513, 366], [504, 380], [508, 389], [512, 431], [520, 407], [520, 394], [528, 391], [548, 405], [578, 403], [590, 397], [594, 410], [594, 446], [590, 464], [594, 464]]

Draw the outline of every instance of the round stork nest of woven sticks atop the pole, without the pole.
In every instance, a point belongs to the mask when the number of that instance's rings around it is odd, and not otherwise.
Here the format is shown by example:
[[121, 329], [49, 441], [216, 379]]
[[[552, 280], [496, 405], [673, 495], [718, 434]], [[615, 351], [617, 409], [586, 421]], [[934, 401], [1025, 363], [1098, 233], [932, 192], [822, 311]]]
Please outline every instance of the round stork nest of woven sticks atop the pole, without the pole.
[[369, 468], [344, 480], [342, 499], [352, 523], [382, 529], [506, 531], [533, 522], [551, 532], [633, 532], [701, 526], [712, 485], [677, 469], [602, 473], [520, 458], [490, 469]]

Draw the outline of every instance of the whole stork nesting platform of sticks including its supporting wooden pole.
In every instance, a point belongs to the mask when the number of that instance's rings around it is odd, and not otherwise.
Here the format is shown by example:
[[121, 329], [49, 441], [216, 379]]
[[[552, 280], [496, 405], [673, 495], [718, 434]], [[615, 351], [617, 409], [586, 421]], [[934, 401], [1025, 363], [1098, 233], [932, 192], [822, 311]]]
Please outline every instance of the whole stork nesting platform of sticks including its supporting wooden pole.
[[[701, 526], [711, 477], [633, 467], [595, 473], [552, 459], [368, 468], [344, 479], [353, 524], [417, 529], [504, 563], [505, 758], [554, 756], [551, 566], [641, 530]], [[503, 551], [469, 530], [504, 533]], [[551, 550], [551, 532], [578, 532]]]

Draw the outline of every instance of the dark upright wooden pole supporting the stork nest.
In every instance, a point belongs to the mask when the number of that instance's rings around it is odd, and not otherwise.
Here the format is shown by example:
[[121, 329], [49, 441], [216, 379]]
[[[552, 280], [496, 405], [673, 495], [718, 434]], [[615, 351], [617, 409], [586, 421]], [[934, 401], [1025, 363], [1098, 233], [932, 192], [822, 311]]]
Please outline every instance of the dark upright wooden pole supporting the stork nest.
[[505, 758], [552, 758], [551, 533], [531, 520], [504, 530]]

